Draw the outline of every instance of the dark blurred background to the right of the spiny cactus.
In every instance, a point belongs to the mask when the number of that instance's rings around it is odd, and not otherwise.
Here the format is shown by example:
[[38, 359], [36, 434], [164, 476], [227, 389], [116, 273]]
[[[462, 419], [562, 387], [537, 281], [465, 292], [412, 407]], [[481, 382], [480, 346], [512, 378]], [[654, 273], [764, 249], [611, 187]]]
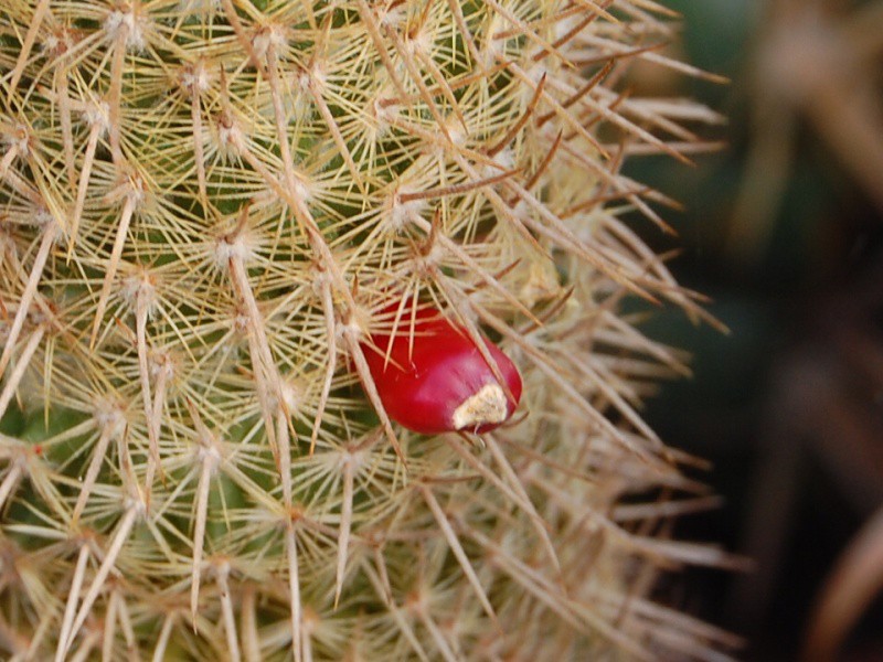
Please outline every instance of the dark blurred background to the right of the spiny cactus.
[[[725, 498], [677, 535], [756, 565], [690, 570], [669, 599], [744, 636], [744, 660], [798, 659], [826, 577], [883, 505], [883, 2], [667, 4], [683, 14], [669, 52], [731, 83], [639, 67], [634, 85], [724, 114], [701, 132], [727, 146], [694, 167], [632, 160], [685, 207], [664, 214], [675, 239], [635, 225], [683, 249], [672, 271], [731, 333], [655, 316], [646, 331], [691, 351], [694, 377], [663, 384], [645, 415], [713, 462], [702, 478]], [[883, 660], [883, 597], [863, 613], [837, 659]]]

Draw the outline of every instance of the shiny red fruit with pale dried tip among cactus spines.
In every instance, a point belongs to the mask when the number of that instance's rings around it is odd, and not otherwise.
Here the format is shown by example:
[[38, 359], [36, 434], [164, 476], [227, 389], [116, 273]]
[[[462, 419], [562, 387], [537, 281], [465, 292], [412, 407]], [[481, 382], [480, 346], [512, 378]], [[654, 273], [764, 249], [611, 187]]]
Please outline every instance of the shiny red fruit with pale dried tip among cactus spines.
[[[387, 312], [395, 310], [397, 306]], [[487, 433], [518, 407], [521, 375], [512, 361], [485, 340], [501, 385], [466, 330], [437, 310], [418, 310], [412, 325], [406, 307], [392, 343], [390, 338], [389, 332], [375, 333], [373, 346], [362, 349], [386, 414], [404, 427], [426, 435]]]

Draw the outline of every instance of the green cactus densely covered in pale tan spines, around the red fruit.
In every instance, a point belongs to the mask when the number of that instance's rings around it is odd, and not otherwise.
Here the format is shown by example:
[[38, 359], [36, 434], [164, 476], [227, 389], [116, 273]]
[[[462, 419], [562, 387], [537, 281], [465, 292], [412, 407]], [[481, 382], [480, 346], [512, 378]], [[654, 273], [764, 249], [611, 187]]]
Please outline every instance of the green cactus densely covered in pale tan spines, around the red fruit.
[[[666, 536], [709, 498], [637, 410], [685, 369], [623, 307], [703, 317], [620, 172], [719, 119], [628, 94], [701, 75], [672, 19], [4, 0], [2, 655], [721, 659], [653, 601], [726, 557]], [[510, 420], [391, 419], [368, 356], [421, 342], [411, 302], [518, 366]]]

